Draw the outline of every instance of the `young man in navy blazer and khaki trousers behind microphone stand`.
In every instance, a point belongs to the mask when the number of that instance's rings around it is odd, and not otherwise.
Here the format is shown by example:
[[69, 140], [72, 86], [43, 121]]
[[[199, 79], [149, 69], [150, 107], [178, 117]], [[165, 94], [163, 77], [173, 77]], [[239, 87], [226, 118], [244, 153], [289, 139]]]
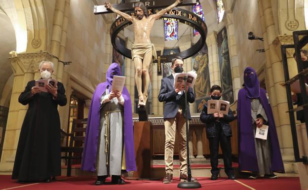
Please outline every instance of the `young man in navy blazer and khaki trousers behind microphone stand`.
[[[183, 72], [183, 58], [175, 57], [172, 59], [172, 75], [161, 79], [161, 87], [158, 95], [159, 102], [165, 102], [164, 106], [164, 125], [165, 125], [165, 163], [166, 176], [163, 183], [171, 183], [173, 179], [173, 150], [175, 133], [178, 132], [179, 157], [180, 157], [180, 180], [187, 181], [187, 149], [186, 149], [186, 120], [185, 120], [185, 87], [174, 87], [175, 73]], [[187, 101], [194, 102], [194, 95], [191, 87], [187, 87]], [[191, 114], [188, 106], [188, 119]], [[192, 178], [192, 181], [195, 179]]]

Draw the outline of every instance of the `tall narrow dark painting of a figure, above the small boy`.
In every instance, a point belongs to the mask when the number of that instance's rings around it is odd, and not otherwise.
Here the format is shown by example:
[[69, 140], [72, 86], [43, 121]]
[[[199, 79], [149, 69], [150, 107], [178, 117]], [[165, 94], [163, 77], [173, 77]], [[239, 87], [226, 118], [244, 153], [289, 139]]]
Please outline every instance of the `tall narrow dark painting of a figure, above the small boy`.
[[234, 102], [234, 98], [233, 98], [228, 35], [226, 27], [224, 27], [217, 34], [217, 43], [218, 43], [217, 46], [218, 46], [218, 59], [219, 59], [219, 69], [220, 69], [220, 82], [223, 90], [222, 99], [229, 101], [231, 104]]

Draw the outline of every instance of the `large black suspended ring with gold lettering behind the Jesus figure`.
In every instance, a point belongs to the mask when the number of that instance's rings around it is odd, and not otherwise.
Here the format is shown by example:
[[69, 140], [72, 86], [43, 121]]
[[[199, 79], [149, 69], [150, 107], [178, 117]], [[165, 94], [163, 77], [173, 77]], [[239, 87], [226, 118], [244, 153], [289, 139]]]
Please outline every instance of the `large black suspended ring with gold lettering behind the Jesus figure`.
[[[160, 9], [148, 9], [149, 14], [153, 14], [153, 12], [158, 12]], [[130, 11], [127, 12], [127, 14], [131, 14], [134, 16], [134, 12]], [[182, 9], [182, 8], [173, 8], [166, 14], [164, 14], [162, 17], [163, 18], [174, 18], [178, 19], [181, 23], [187, 24], [193, 28], [195, 28], [201, 38], [192, 45], [191, 48], [179, 52], [177, 54], [172, 54], [172, 55], [161, 55], [160, 59], [166, 59], [165, 62], [171, 62], [172, 58], [175, 56], [181, 56], [183, 59], [189, 58], [196, 54], [198, 51], [201, 50], [205, 43], [206, 35], [207, 35], [207, 27], [204, 21], [198, 17], [196, 14], [192, 13], [191, 11]], [[110, 28], [110, 36], [111, 36], [111, 42], [114, 48], [123, 56], [128, 57], [131, 59], [131, 50], [124, 47], [122, 44], [119, 43], [118, 40], [116, 40], [117, 34], [124, 29], [126, 26], [131, 25], [132, 23], [129, 22], [128, 20], [124, 19], [123, 17], [119, 17], [116, 19], [116, 21], [111, 25]]]

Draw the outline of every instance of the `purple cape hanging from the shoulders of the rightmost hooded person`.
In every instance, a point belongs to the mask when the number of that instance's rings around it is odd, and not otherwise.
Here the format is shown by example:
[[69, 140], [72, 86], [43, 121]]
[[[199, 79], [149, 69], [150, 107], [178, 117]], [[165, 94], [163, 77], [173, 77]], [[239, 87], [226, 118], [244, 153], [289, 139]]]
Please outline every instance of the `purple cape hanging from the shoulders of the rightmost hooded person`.
[[[258, 160], [254, 142], [251, 99], [247, 97], [247, 91], [242, 88], [238, 92], [237, 102], [237, 126], [238, 126], [238, 152], [240, 171], [259, 171]], [[271, 144], [271, 170], [284, 173], [282, 157], [276, 132], [276, 125], [267, 99], [266, 90], [260, 88], [260, 102], [265, 110], [269, 122], [269, 138]]]

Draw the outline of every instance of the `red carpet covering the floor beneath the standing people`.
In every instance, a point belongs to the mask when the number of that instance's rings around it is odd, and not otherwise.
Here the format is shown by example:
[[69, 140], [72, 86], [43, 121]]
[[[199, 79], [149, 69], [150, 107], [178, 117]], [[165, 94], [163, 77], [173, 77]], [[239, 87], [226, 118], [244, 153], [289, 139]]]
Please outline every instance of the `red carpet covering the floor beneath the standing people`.
[[[95, 186], [94, 176], [57, 177], [56, 182], [20, 184], [10, 179], [11, 176], [0, 176], [0, 190], [178, 190], [179, 178], [174, 178], [171, 184], [159, 181], [126, 180], [125, 185], [112, 185], [110, 178], [106, 185]], [[300, 190], [298, 177], [280, 177], [278, 179], [257, 180], [239, 179], [237, 181], [219, 178], [211, 181], [209, 178], [198, 178], [205, 190]]]

